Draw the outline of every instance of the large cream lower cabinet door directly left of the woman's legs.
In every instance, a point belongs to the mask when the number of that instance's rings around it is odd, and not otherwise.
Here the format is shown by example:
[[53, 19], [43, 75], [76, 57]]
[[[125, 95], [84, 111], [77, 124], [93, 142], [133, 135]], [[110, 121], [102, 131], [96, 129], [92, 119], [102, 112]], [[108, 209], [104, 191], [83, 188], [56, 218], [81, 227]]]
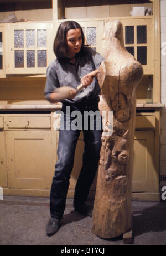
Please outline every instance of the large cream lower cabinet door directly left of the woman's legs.
[[9, 188], [50, 189], [49, 131], [7, 131]]

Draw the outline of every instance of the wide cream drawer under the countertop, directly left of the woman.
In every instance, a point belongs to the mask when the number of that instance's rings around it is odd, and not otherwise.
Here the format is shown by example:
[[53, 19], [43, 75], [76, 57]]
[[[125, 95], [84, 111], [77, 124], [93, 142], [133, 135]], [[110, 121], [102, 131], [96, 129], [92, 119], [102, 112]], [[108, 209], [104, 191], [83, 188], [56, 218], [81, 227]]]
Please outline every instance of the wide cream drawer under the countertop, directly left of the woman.
[[50, 116], [8, 116], [7, 129], [51, 129]]

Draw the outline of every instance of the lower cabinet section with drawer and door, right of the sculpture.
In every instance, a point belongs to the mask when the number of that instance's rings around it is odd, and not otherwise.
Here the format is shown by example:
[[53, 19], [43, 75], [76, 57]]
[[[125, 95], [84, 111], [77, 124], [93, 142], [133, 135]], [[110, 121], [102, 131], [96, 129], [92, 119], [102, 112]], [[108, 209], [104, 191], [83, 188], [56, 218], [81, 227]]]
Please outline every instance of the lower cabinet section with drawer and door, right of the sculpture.
[[134, 136], [132, 198], [160, 201], [159, 111], [138, 113]]

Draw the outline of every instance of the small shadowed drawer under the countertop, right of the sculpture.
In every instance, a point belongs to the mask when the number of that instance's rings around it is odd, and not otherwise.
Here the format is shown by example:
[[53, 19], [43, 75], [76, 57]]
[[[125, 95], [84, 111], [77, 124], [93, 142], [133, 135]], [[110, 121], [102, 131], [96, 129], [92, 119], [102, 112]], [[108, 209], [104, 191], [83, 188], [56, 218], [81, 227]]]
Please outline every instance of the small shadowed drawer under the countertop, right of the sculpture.
[[136, 129], [155, 129], [155, 116], [136, 116]]

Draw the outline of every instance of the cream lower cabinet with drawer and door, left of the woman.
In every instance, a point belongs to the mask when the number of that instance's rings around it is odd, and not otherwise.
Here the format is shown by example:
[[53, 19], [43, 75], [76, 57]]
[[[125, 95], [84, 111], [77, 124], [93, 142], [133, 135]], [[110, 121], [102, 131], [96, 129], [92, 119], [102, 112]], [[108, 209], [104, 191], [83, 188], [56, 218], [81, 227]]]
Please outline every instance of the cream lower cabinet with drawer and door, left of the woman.
[[49, 195], [56, 159], [56, 134], [51, 126], [51, 114], [0, 117], [0, 186], [4, 194]]

